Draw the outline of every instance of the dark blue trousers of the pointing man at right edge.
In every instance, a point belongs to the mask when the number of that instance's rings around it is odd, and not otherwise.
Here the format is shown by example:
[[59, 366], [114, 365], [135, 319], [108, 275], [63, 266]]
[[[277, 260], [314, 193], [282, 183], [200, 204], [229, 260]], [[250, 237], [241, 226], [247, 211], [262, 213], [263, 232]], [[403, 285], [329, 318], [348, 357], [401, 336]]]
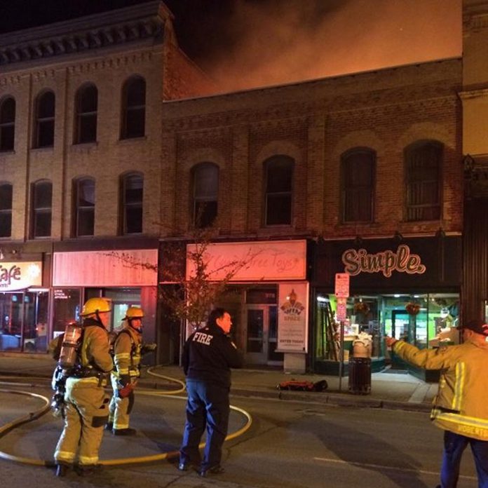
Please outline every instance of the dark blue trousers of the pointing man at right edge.
[[488, 488], [488, 441], [467, 438], [454, 432], [444, 432], [444, 453], [440, 470], [441, 488], [456, 488], [461, 456], [471, 446], [478, 477], [478, 488]]

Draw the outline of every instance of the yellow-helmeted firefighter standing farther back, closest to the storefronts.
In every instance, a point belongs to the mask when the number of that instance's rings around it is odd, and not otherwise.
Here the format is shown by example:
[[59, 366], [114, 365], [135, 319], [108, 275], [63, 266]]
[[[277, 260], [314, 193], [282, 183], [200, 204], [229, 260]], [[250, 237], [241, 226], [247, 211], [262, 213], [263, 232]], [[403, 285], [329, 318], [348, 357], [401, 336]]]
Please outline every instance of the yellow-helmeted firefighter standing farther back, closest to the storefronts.
[[137, 306], [127, 309], [123, 329], [114, 339], [115, 370], [111, 374], [114, 395], [110, 402], [110, 416], [105, 428], [114, 435], [135, 435], [129, 427], [130, 412], [134, 406], [134, 388], [140, 377], [141, 355], [154, 351], [156, 344], [142, 344], [144, 311]]

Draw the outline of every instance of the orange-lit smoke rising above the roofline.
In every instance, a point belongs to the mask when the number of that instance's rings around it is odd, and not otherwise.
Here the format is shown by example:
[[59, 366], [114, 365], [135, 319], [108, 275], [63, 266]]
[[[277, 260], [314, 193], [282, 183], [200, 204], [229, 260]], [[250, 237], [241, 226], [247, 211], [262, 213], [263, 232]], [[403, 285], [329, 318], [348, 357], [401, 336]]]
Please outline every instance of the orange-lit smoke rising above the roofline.
[[234, 0], [208, 39], [220, 90], [292, 83], [459, 56], [461, 0]]

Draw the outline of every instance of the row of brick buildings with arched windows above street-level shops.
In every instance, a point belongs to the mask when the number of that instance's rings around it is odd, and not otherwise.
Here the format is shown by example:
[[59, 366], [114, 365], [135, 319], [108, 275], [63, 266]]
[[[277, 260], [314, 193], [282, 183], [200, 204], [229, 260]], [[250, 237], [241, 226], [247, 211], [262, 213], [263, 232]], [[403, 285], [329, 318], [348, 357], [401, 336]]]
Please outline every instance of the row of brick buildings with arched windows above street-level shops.
[[0, 350], [42, 351], [39, 323], [52, 337], [102, 294], [119, 315], [142, 304], [158, 359], [177, 360], [155, 270], [211, 223], [210, 259], [253, 256], [220, 304], [249, 364], [334, 371], [334, 315], [345, 353], [373, 335], [377, 367], [384, 334], [432, 346], [461, 313], [463, 154], [488, 154], [466, 150], [488, 79], [466, 81], [470, 42], [488, 42], [470, 39], [463, 59], [208, 95], [158, 2], [0, 37], [0, 248], [42, 268], [0, 303]]

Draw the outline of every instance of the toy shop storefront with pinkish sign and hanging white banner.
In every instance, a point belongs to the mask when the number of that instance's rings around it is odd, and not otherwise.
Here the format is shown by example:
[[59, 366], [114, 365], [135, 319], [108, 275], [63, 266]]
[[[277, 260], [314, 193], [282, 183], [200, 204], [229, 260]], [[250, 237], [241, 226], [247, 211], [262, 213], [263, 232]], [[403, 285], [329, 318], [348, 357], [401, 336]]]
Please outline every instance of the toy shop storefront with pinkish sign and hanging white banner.
[[[218, 282], [232, 270], [226, 293], [215, 306], [231, 313], [233, 338], [247, 365], [283, 365], [285, 370], [304, 372], [309, 344], [306, 254], [306, 240], [206, 247], [210, 281]], [[191, 280], [194, 264], [188, 258], [186, 273]], [[182, 340], [191, 332], [191, 327], [186, 329]]]

